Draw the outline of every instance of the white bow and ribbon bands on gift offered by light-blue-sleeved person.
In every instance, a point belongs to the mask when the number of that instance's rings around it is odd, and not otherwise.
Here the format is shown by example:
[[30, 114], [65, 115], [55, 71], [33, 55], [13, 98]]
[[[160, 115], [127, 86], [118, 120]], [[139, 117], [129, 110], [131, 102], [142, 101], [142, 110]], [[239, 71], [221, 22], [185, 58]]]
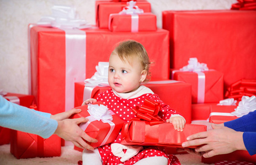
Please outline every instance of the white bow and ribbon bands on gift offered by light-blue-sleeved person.
[[108, 123], [110, 125], [110, 130], [104, 138], [104, 140], [102, 141], [102, 144], [100, 144], [100, 146], [105, 145], [106, 141], [109, 139], [111, 133], [115, 128], [115, 123], [111, 122], [113, 120], [112, 115], [115, 113], [113, 111], [108, 110], [108, 107], [105, 107], [103, 105], [88, 105], [88, 112], [90, 114], [90, 116], [87, 117], [89, 121], [80, 124], [79, 127], [85, 131], [88, 125], [94, 122], [95, 120], [102, 120], [103, 123]]

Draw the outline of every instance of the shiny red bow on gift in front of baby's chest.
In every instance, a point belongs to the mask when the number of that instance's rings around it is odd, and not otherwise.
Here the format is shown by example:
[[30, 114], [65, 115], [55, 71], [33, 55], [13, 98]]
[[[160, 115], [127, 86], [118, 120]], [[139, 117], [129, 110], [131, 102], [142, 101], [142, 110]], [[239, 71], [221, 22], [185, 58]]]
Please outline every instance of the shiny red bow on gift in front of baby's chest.
[[146, 120], [150, 122], [150, 125], [163, 123], [163, 119], [158, 116], [161, 107], [160, 103], [146, 99], [141, 107], [136, 106], [136, 109], [132, 109], [136, 118], [131, 120]]

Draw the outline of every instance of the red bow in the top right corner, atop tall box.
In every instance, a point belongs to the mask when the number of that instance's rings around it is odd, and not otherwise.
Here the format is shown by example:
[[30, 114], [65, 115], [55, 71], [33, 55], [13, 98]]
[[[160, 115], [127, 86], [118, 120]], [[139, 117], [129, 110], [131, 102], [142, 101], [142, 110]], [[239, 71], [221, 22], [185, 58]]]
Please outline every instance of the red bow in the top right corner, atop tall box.
[[256, 10], [256, 0], [237, 0], [232, 4], [232, 10]]

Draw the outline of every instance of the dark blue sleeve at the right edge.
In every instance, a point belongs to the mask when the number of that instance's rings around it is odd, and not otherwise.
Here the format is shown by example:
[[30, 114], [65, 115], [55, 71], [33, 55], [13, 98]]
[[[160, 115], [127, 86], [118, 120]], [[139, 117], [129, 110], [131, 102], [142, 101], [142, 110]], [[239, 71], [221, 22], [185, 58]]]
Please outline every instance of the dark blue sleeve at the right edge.
[[244, 146], [246, 146], [250, 155], [256, 154], [256, 111], [250, 112], [236, 120], [225, 122], [224, 125], [233, 130], [244, 132]]

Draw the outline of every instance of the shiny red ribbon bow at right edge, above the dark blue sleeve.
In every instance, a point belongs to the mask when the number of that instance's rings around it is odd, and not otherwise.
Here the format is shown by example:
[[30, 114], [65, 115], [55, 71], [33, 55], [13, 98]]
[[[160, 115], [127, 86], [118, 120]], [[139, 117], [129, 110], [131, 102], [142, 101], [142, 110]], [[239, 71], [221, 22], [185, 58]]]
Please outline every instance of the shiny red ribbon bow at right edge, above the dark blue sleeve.
[[225, 97], [241, 101], [243, 96], [256, 96], [256, 80], [239, 80], [228, 87]]

